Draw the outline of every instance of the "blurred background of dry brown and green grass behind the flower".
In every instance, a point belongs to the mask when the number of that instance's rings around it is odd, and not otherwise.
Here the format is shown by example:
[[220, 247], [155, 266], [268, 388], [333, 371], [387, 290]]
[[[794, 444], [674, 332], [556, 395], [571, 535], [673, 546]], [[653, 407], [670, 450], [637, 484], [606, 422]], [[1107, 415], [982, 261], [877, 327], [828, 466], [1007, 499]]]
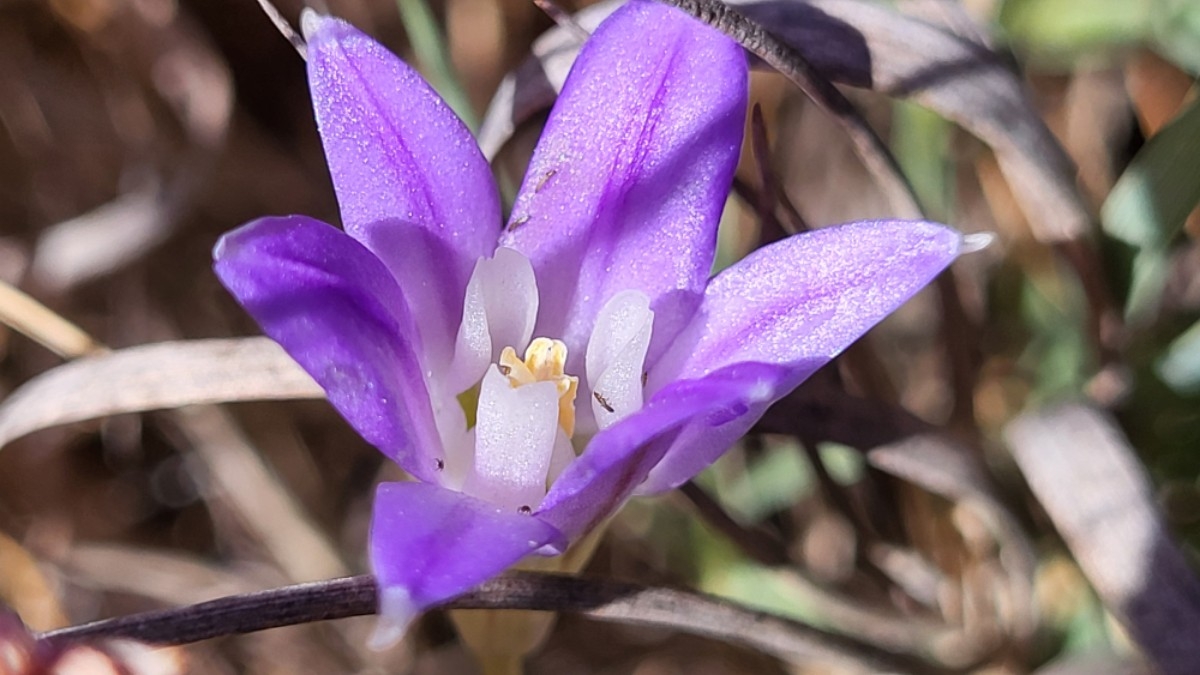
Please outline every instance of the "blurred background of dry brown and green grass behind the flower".
[[[554, 22], [524, 0], [424, 2], [329, 0], [328, 11], [418, 66], [478, 129]], [[799, 2], [775, 5], [786, 4]], [[696, 484], [626, 507], [586, 573], [715, 593], [949, 671], [1150, 671], [1128, 629], [1139, 634], [1138, 611], [1122, 604], [1128, 561], [1105, 557], [1109, 521], [1072, 509], [1144, 513], [1141, 530], [1122, 532], [1169, 532], [1168, 567], [1181, 587], [1195, 584], [1200, 7], [810, 5], [904, 17], [863, 28], [874, 79], [845, 91], [930, 217], [996, 240]], [[301, 5], [278, 6], [294, 24]], [[938, 84], [949, 98], [888, 84], [889, 64], [937, 59], [941, 42], [906, 43], [925, 29], [982, 54], [991, 74]], [[719, 264], [806, 227], [896, 215], [841, 127], [785, 77], [756, 71], [752, 97]], [[518, 183], [541, 119], [524, 115], [500, 139], [502, 186]], [[1021, 130], [1038, 119], [1073, 166]], [[211, 247], [242, 222], [289, 213], [337, 222], [304, 62], [256, 2], [0, 2], [0, 414], [22, 384], [101, 346], [257, 335], [212, 275]], [[13, 325], [61, 340], [47, 348]], [[1063, 413], [1063, 401], [1076, 407]], [[1061, 455], [1039, 444], [1056, 441]], [[384, 464], [322, 401], [40, 430], [0, 452], [0, 602], [42, 631], [362, 573]], [[1097, 500], [1112, 513], [1088, 512]], [[384, 653], [364, 647], [371, 627], [300, 626], [172, 653], [204, 674], [470, 671], [440, 613]], [[564, 616], [529, 670], [853, 668]]]

